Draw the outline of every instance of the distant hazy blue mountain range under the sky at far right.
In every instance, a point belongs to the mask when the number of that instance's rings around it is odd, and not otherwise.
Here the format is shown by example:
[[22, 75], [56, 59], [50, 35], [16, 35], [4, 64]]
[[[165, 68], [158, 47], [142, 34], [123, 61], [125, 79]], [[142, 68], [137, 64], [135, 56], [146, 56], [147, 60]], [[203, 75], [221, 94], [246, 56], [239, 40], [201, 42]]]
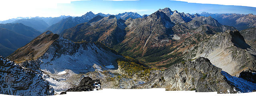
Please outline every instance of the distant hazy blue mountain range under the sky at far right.
[[201, 16], [211, 16], [223, 25], [234, 26], [238, 30], [256, 27], [256, 16], [253, 14], [211, 14], [202, 12]]

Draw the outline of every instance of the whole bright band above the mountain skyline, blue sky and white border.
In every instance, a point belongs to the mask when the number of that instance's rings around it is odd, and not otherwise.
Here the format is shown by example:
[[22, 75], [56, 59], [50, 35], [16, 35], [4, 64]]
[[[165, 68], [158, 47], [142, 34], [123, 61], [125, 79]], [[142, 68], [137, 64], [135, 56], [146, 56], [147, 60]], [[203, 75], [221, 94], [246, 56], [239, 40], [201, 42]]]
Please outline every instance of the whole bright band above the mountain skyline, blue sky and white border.
[[172, 11], [190, 14], [202, 12], [256, 14], [254, 0], [0, 0], [0, 20], [36, 16], [82, 16], [89, 11], [95, 14], [137, 12], [143, 15], [152, 14], [166, 7]]

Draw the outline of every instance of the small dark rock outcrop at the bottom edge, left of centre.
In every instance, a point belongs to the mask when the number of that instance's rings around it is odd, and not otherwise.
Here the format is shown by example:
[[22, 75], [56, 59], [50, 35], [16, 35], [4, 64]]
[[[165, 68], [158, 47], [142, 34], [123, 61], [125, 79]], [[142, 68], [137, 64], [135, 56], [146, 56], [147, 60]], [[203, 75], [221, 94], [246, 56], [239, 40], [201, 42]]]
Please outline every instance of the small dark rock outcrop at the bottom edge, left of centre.
[[94, 91], [101, 89], [101, 82], [99, 79], [93, 80], [90, 77], [84, 77], [79, 85], [74, 88], [69, 88], [65, 92], [61, 92], [60, 94], [66, 94], [67, 92], [82, 92], [82, 91]]

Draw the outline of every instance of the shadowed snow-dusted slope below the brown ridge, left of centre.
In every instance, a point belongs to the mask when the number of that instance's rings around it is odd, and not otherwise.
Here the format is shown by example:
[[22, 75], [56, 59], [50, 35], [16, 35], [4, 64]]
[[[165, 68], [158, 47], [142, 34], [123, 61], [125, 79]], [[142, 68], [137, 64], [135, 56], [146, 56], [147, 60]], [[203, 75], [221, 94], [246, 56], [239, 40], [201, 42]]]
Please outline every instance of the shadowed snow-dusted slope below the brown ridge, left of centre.
[[44, 79], [58, 93], [77, 86], [87, 72], [115, 68], [117, 58], [122, 56], [94, 43], [74, 43], [60, 37], [39, 60]]

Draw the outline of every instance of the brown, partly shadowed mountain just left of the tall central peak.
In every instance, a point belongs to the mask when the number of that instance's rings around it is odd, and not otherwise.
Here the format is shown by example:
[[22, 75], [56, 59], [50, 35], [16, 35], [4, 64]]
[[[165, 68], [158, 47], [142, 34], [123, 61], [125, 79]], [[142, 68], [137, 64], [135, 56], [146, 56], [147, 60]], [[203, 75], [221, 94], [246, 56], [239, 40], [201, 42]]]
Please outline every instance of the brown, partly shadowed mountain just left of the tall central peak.
[[79, 24], [62, 33], [64, 38], [75, 42], [101, 42], [107, 46], [119, 44], [125, 36], [125, 21], [115, 16], [96, 16], [87, 23]]

